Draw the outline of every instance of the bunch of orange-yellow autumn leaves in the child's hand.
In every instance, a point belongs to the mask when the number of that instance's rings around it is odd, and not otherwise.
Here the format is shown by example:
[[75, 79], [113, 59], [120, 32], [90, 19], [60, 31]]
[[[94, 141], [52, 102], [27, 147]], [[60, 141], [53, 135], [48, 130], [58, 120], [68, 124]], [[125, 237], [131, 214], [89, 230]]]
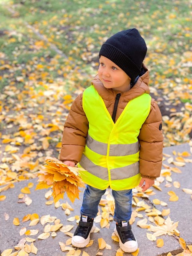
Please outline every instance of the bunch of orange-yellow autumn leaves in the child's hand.
[[75, 198], [79, 199], [79, 187], [84, 187], [84, 183], [78, 175], [79, 170], [84, 169], [70, 167], [56, 158], [47, 157], [46, 164], [40, 168], [36, 190], [52, 188], [54, 203], [63, 199], [66, 192], [71, 202], [74, 202]]

